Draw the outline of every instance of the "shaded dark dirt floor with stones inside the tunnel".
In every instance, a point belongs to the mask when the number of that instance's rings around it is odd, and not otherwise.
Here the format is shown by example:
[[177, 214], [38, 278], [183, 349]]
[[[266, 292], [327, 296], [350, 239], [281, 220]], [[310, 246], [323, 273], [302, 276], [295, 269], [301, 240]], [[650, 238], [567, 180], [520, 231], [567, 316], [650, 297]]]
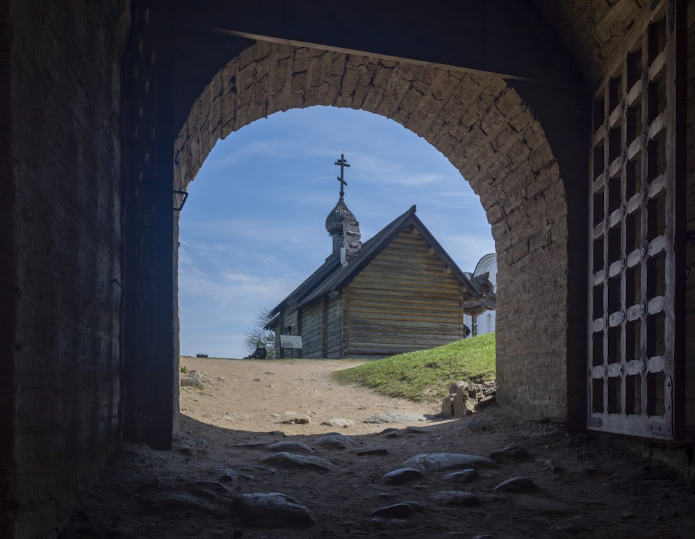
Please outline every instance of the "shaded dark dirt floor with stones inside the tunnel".
[[[692, 532], [692, 481], [614, 438], [572, 435], [562, 425], [518, 420], [498, 406], [473, 419], [394, 427], [360, 436], [344, 429], [339, 434], [354, 445], [327, 447], [317, 443], [322, 434], [222, 429], [183, 415], [172, 451], [123, 445], [60, 537], [685, 538]], [[269, 449], [277, 442], [300, 442], [330, 467], [264, 461], [277, 454]], [[402, 484], [384, 479], [418, 454], [487, 458], [510, 447], [521, 451], [498, 455], [495, 467], [479, 467], [465, 480], [449, 475], [464, 465], [423, 469]], [[220, 475], [223, 468], [234, 476]], [[498, 488], [514, 478], [525, 479]], [[477, 503], [439, 494], [452, 491], [468, 492]], [[280, 519], [273, 524], [279, 527], [265, 527], [277, 520], [273, 508], [248, 522], [238, 497], [256, 492], [295, 499], [316, 523]], [[397, 506], [393, 514], [374, 513], [388, 506]]]

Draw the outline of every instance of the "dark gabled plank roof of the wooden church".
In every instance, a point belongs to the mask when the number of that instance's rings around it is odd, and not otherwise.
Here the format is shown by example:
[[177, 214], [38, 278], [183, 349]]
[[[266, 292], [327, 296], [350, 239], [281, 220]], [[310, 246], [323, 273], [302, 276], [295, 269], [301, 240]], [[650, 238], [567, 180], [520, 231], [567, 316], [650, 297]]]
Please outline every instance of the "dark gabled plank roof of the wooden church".
[[[371, 261], [374, 260], [396, 236], [411, 226], [417, 229], [422, 238], [430, 244], [432, 249], [434, 249], [434, 253], [439, 256], [443, 263], [451, 270], [452, 274], [459, 280], [461, 285], [468, 290], [471, 296], [478, 297], [480, 292], [476, 290], [475, 286], [464, 272], [461, 271], [454, 260], [452, 260], [443, 247], [441, 247], [441, 244], [434, 238], [432, 233], [427, 229], [427, 226], [415, 215], [415, 212], [416, 206], [413, 205], [407, 212], [396, 217], [391, 223], [384, 226], [373, 238], [362, 244], [359, 253], [350, 260], [350, 263], [347, 265], [341, 265], [340, 254], [329, 256], [316, 272], [313, 272], [306, 281], [295, 288], [288, 297], [270, 311], [270, 314], [276, 315], [285, 306], [300, 308], [310, 301], [318, 299], [322, 295], [342, 290], [364, 267], [371, 263]], [[272, 321], [269, 322], [268, 326], [272, 325], [274, 325]]]

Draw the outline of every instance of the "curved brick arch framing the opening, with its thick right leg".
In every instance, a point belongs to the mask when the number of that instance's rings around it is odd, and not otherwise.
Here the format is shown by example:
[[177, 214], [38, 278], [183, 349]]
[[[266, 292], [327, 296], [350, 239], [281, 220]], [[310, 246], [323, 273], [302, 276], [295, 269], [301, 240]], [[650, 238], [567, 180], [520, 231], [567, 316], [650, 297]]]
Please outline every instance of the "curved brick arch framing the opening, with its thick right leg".
[[176, 188], [188, 187], [218, 139], [316, 105], [393, 119], [471, 183], [498, 252], [498, 400], [527, 417], [566, 419], [566, 194], [523, 99], [491, 75], [256, 42], [195, 102], [174, 148]]

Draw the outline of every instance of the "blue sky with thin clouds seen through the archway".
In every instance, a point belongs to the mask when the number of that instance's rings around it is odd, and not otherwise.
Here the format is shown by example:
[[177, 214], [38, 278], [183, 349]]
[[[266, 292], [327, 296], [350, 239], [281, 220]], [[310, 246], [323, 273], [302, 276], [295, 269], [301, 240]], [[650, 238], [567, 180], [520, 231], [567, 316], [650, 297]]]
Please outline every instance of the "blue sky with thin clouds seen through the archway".
[[325, 219], [345, 204], [368, 240], [413, 204], [464, 271], [494, 251], [480, 199], [451, 163], [393, 120], [333, 107], [288, 110], [218, 141], [181, 212], [181, 354], [240, 358], [259, 310], [331, 254]]

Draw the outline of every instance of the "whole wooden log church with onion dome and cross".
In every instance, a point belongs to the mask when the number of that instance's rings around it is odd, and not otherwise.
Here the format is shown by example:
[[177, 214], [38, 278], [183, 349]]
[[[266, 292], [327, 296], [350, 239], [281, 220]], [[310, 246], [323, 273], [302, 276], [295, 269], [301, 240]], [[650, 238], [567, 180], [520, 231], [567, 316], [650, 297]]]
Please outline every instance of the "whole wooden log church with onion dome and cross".
[[468, 279], [416, 215], [416, 207], [362, 243], [340, 198], [326, 219], [333, 252], [272, 309], [278, 357], [379, 358], [467, 335], [464, 314], [494, 307], [486, 279]]

